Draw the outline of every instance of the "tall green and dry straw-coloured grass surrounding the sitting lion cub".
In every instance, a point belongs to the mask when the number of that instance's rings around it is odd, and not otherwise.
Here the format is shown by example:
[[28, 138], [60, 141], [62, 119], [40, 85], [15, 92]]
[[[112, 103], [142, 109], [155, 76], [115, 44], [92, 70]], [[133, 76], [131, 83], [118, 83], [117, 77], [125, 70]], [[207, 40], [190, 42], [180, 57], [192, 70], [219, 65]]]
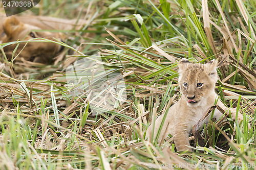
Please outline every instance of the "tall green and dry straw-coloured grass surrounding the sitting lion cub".
[[[255, 2], [45, 0], [33, 10], [86, 18], [90, 29], [67, 33], [71, 38], [62, 45], [75, 52], [68, 60], [2, 68], [2, 169], [255, 167]], [[127, 99], [114, 109], [92, 107], [87, 96], [71, 95], [66, 86], [66, 68], [89, 57], [125, 80]], [[177, 153], [172, 138], [162, 144], [144, 139], [155, 117], [180, 98], [179, 58], [222, 61], [216, 90], [244, 114], [241, 125], [228, 116], [205, 125], [199, 132], [205, 145], [190, 137], [193, 153]]]

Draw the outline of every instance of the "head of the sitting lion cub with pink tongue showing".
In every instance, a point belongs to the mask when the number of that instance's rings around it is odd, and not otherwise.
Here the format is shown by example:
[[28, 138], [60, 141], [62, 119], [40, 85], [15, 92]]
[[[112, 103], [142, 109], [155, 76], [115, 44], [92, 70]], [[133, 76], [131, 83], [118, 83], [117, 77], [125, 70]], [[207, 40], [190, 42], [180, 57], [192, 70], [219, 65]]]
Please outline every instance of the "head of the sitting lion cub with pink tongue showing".
[[218, 80], [217, 61], [209, 63], [190, 63], [181, 59], [179, 66], [179, 86], [188, 106], [199, 106], [203, 99], [214, 93]]

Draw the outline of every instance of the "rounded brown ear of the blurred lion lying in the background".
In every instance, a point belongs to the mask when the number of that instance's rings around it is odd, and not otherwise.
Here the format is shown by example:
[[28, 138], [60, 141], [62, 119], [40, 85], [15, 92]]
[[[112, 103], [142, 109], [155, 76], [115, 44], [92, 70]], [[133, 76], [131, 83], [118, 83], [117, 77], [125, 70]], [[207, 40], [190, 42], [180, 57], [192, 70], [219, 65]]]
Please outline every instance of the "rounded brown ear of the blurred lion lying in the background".
[[16, 17], [7, 17], [4, 22], [4, 31], [6, 35], [11, 36], [11, 34], [18, 27], [18, 25], [20, 25], [20, 22]]

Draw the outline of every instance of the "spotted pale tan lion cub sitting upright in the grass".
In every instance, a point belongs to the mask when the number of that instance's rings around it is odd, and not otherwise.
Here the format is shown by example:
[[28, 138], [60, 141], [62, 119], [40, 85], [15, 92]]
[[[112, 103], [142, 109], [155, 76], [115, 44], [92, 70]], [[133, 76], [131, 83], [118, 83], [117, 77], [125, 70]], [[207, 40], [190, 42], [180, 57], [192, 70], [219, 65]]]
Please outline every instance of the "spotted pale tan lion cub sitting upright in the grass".
[[[158, 141], [166, 138], [168, 134], [176, 135], [174, 143], [177, 151], [192, 151], [189, 148], [189, 132], [205, 111], [218, 100], [218, 95], [215, 93], [215, 83], [218, 80], [217, 61], [195, 64], [183, 58], [179, 61], [178, 66], [182, 96], [176, 104], [169, 108]], [[228, 109], [220, 100], [217, 105], [224, 111], [230, 110], [232, 118], [236, 118], [236, 109]], [[205, 120], [208, 120], [209, 116]], [[218, 119], [221, 116], [222, 113], [216, 109], [214, 117]], [[156, 119], [154, 137], [156, 137], [163, 117], [164, 114]], [[239, 113], [238, 122], [240, 123], [242, 119], [243, 116]], [[147, 138], [153, 137], [152, 131], [153, 123], [147, 129]]]

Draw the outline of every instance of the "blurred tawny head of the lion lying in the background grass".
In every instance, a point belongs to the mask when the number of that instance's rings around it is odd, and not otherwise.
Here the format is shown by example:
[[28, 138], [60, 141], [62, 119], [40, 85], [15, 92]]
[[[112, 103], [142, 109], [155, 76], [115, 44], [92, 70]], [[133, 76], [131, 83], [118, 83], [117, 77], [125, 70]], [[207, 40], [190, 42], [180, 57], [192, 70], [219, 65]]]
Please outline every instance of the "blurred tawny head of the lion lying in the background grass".
[[[40, 28], [20, 22], [14, 16], [7, 17], [6, 20], [3, 22], [2, 27], [4, 32], [2, 33], [0, 40], [3, 43], [17, 40], [30, 40], [33, 38], [45, 38], [49, 40], [54, 40], [54, 38], [56, 38], [61, 40], [61, 38], [63, 37], [63, 35], [60, 33], [40, 31]], [[13, 44], [4, 47], [4, 51], [8, 59], [12, 58], [13, 51], [16, 45], [17, 44]], [[19, 54], [19, 57], [22, 57], [28, 61], [48, 63], [48, 61], [50, 61], [53, 56], [60, 52], [60, 50], [62, 50], [62, 46], [56, 43], [20, 43], [17, 47], [14, 57]], [[17, 60], [19, 60], [19, 57], [17, 58]]]

